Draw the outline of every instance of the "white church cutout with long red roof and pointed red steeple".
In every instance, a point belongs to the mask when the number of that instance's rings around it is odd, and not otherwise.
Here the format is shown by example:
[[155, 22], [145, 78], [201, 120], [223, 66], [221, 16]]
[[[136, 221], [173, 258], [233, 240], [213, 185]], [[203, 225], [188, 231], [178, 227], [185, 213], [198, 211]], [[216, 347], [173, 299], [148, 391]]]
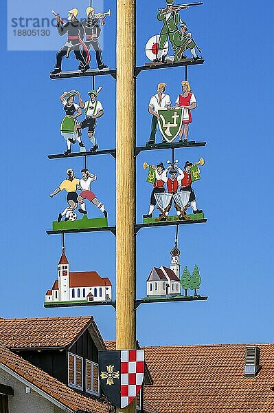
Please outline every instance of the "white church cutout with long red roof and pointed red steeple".
[[111, 301], [112, 285], [108, 277], [100, 277], [96, 271], [72, 272], [63, 248], [57, 266], [58, 278], [51, 290], [47, 290], [45, 303], [69, 301]]

